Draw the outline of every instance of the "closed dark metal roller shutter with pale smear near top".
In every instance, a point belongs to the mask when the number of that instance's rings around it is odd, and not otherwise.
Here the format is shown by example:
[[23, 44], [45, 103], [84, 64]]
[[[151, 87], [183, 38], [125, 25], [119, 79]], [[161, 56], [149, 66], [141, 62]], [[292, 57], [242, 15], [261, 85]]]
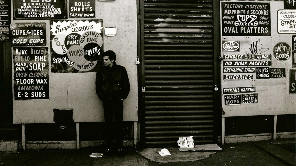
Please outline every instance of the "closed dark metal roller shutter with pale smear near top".
[[213, 143], [213, 0], [142, 2], [146, 147]]

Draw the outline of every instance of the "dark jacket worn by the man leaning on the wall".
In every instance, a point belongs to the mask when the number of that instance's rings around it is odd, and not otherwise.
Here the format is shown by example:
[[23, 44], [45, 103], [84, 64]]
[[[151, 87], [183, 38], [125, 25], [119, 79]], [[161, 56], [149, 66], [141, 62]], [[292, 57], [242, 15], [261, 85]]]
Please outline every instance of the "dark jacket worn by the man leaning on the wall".
[[130, 91], [128, 73], [123, 66], [102, 66], [96, 72], [96, 94], [100, 100], [126, 99]]

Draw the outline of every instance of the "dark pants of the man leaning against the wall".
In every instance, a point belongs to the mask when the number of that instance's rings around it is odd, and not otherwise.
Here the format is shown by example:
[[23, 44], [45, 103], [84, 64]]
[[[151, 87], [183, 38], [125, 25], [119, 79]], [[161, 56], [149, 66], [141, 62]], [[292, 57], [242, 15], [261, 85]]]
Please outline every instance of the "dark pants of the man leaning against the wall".
[[[105, 134], [106, 147], [111, 148], [116, 139], [116, 148], [122, 147], [123, 144], [123, 100], [121, 99], [107, 99], [104, 100], [104, 118], [105, 118]], [[114, 122], [113, 122], [114, 117]]]

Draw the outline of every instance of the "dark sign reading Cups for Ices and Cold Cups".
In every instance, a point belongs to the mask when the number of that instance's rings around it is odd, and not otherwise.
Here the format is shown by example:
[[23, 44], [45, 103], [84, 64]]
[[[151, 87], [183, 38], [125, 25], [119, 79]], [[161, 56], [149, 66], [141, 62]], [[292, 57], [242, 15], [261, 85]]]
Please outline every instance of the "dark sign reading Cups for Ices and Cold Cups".
[[26, 22], [10, 25], [11, 44], [13, 46], [46, 45], [46, 23]]

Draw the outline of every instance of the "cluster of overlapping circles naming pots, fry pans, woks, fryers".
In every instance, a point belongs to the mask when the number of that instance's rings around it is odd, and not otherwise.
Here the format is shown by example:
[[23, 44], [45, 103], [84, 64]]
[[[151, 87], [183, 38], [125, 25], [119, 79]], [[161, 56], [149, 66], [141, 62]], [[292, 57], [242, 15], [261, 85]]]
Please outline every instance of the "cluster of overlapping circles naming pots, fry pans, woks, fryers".
[[79, 71], [89, 71], [96, 66], [102, 45], [102, 36], [96, 31], [86, 31], [82, 35], [58, 34], [52, 40], [54, 52], [67, 53], [68, 59], [74, 62], [73, 67]]

